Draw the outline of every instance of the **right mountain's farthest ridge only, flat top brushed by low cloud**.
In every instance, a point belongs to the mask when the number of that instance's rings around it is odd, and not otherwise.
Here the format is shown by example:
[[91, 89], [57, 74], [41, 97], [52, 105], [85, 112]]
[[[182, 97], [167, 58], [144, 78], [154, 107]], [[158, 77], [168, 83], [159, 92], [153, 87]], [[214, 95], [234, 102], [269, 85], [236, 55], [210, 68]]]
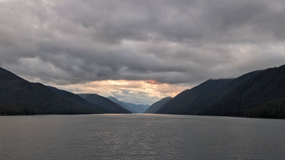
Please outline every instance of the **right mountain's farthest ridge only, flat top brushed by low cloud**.
[[192, 89], [179, 93], [159, 108], [156, 114], [186, 114], [188, 108], [232, 79], [209, 79]]

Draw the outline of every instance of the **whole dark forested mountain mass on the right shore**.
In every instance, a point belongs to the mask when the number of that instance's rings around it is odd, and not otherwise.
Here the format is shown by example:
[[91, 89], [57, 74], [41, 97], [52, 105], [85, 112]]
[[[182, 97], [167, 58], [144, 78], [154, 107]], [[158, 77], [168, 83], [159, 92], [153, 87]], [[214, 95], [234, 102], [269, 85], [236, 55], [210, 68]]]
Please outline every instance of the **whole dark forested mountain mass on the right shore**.
[[285, 65], [236, 79], [210, 79], [179, 93], [155, 113], [285, 118]]

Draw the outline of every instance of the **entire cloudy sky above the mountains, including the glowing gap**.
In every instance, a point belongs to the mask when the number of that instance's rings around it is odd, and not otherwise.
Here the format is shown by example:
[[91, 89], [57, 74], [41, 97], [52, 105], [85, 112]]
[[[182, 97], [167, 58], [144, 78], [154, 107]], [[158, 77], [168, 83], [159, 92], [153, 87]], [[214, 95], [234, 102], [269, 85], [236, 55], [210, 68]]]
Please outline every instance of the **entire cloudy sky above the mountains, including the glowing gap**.
[[0, 1], [0, 66], [31, 82], [152, 104], [285, 64], [285, 1]]

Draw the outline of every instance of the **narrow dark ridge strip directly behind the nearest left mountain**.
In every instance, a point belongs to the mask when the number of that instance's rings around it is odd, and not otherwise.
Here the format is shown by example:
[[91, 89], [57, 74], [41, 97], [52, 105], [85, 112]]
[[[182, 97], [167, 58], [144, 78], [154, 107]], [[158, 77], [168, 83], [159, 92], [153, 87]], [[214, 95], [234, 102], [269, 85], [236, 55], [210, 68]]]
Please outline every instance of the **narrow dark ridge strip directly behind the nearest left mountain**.
[[52, 86], [46, 86], [48, 87], [48, 89], [52, 90], [54, 93], [62, 96], [62, 97], [67, 97], [67, 98], [72, 98], [74, 100], [77, 100], [78, 102], [80, 102], [81, 104], [83, 104], [84, 106], [89, 106], [89, 107], [93, 107], [97, 110], [100, 110], [102, 111], [102, 113], [107, 113], [109, 112], [109, 110], [105, 109], [104, 107], [102, 106], [99, 106], [97, 104], [94, 104], [94, 103], [91, 103], [89, 102], [88, 100], [80, 97], [79, 95], [76, 95], [74, 93], [71, 93], [71, 92], [68, 92], [68, 91], [64, 91], [64, 90], [60, 90], [60, 89], [57, 89], [56, 87], [52, 87]]

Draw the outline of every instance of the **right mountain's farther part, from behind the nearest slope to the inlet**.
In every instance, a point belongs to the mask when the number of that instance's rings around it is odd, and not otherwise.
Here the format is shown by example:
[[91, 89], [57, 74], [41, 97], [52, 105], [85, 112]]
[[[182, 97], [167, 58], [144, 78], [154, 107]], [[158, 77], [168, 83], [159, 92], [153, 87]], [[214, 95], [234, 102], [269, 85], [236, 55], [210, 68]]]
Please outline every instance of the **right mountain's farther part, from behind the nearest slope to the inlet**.
[[235, 87], [260, 72], [261, 71], [253, 71], [235, 79], [210, 79], [192, 89], [178, 94], [155, 113], [198, 114], [202, 108], [206, 108], [213, 104], [213, 102], [225, 97], [225, 95]]

